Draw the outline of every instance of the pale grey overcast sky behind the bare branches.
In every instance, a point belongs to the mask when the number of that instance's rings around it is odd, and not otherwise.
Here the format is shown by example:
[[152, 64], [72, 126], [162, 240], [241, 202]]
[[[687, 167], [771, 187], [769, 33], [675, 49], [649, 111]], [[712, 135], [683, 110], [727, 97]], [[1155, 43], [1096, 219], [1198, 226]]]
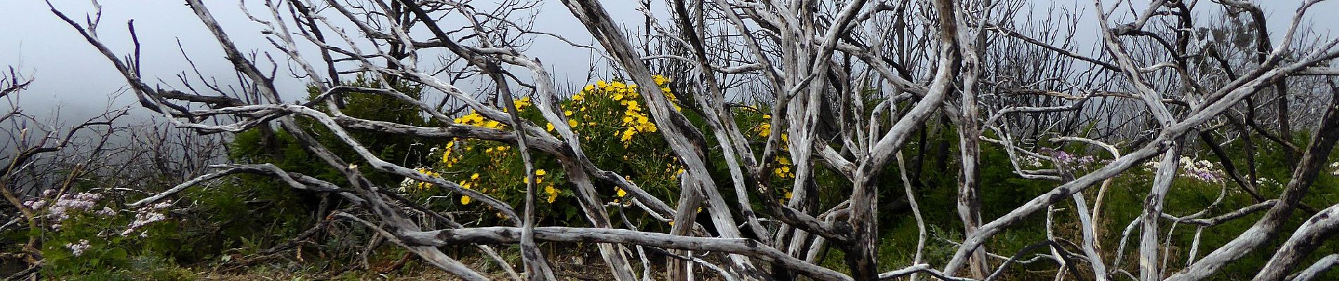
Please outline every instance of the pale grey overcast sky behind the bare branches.
[[[86, 0], [52, 1], [76, 20], [84, 19], [84, 15], [92, 11]], [[1206, 0], [1200, 1], [1202, 5], [1212, 5]], [[246, 20], [237, 1], [209, 0], [208, 3], [210, 11], [222, 23], [224, 29], [241, 48], [273, 51], [257, 32], [258, 24]], [[639, 13], [633, 11], [636, 1], [613, 0], [605, 3], [612, 15], [631, 21], [624, 23], [629, 28], [641, 24]], [[653, 3], [659, 7], [663, 1]], [[1050, 1], [1034, 3], [1038, 7], [1051, 5]], [[1063, 7], [1085, 8], [1091, 15], [1090, 1], [1062, 0], [1059, 3], [1058, 5]], [[1269, 15], [1271, 28], [1281, 33], [1300, 0], [1263, 3], [1265, 3], [1265, 12]], [[250, 1], [250, 4], [256, 4], [256, 1]], [[218, 76], [224, 81], [233, 77], [232, 67], [222, 59], [222, 51], [200, 24], [200, 19], [182, 1], [103, 0], [102, 5], [100, 36], [118, 53], [133, 51], [126, 32], [126, 20], [135, 20], [145, 55], [143, 72], [151, 85], [154, 80], [162, 80], [165, 85], [179, 87], [181, 83], [174, 75], [182, 71], [189, 72], [190, 68], [182, 59], [177, 40], [205, 72], [205, 76]], [[1339, 4], [1322, 3], [1310, 13], [1308, 17], [1319, 33], [1330, 33], [1328, 31], [1339, 27], [1339, 20], [1335, 19], [1335, 15], [1339, 15], [1336, 5]], [[252, 11], [261, 12], [260, 8]], [[577, 43], [592, 43], [585, 29], [557, 0], [541, 4], [536, 20], [536, 28], [540, 31], [560, 33]], [[1095, 28], [1097, 25], [1091, 16], [1083, 21], [1081, 28]], [[1079, 36], [1093, 35], [1093, 32], [1079, 33]], [[1081, 39], [1081, 41], [1091, 40]], [[572, 69], [569, 72], [554, 71], [560, 80], [568, 79], [574, 84], [585, 83], [582, 80], [590, 56], [584, 49], [572, 48], [556, 40], [540, 39], [528, 55], [541, 59], [552, 69]], [[36, 79], [33, 85], [21, 95], [21, 105], [31, 115], [51, 116], [55, 108], [60, 108], [62, 117], [82, 117], [92, 112], [102, 112], [108, 104], [125, 107], [134, 100], [131, 93], [108, 100], [110, 95], [125, 88], [125, 79], [111, 67], [111, 63], [90, 47], [71, 27], [52, 15], [46, 3], [40, 0], [8, 1], [0, 8], [0, 67], [5, 65], [13, 65], [25, 76]], [[301, 83], [285, 80], [281, 87], [300, 89]], [[146, 115], [146, 111], [137, 112]]]

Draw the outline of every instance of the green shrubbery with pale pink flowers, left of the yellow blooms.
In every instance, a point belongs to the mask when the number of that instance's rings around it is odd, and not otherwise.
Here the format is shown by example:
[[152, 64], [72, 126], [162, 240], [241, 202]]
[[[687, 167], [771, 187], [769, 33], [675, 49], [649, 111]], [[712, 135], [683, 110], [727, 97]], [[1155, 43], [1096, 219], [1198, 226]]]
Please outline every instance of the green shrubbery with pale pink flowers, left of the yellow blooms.
[[[351, 85], [380, 87], [362, 76]], [[418, 87], [395, 88], [412, 97], [420, 95]], [[317, 95], [315, 87], [309, 91], [312, 97]], [[411, 103], [394, 97], [345, 93], [340, 99], [348, 105], [341, 112], [353, 117], [432, 125], [418, 115], [419, 109]], [[324, 107], [317, 109], [327, 111]], [[335, 153], [352, 154], [347, 144], [332, 137], [317, 123], [299, 119], [299, 125], [313, 132], [317, 141]], [[368, 132], [351, 135], [364, 145], [378, 148], [378, 156], [387, 161], [422, 158], [422, 152], [415, 150], [424, 146], [419, 140]], [[269, 132], [268, 128], [258, 128], [238, 133], [230, 148], [229, 157], [237, 162], [272, 162], [289, 172], [345, 182], [343, 176], [304, 150], [284, 129]], [[372, 174], [375, 184], [383, 186], [400, 181], [399, 177], [383, 173], [368, 174]], [[133, 233], [121, 232], [147, 210], [119, 210], [114, 214], [94, 212], [104, 205], [90, 210], [71, 210], [70, 217], [59, 222], [58, 232], [39, 232], [43, 236], [44, 274], [82, 280], [194, 280], [190, 272], [181, 270], [175, 264], [205, 265], [218, 261], [220, 256], [245, 256], [279, 245], [321, 220], [320, 216], [324, 214], [317, 214], [317, 209], [328, 210], [339, 205], [337, 200], [325, 200], [321, 194], [295, 190], [273, 178], [250, 174], [234, 176], [206, 188], [187, 189], [182, 196], [190, 198], [190, 204], [177, 206], [179, 213], [153, 209], [170, 218], [146, 224]], [[324, 201], [333, 202], [321, 205]], [[367, 237], [366, 232], [349, 234], [325, 240], [324, 249], [351, 249], [349, 242], [364, 242]], [[74, 249], [84, 245], [87, 248], [76, 254]]]

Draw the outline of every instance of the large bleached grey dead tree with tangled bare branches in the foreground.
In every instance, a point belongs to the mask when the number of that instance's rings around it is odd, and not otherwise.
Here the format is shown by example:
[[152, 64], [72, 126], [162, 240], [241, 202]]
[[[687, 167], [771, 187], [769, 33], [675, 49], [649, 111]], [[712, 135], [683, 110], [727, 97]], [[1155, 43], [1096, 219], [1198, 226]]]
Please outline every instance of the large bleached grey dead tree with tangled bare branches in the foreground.
[[[150, 85], [138, 69], [142, 59], [138, 51], [133, 56], [121, 56], [118, 52], [126, 51], [114, 51], [98, 37], [98, 16], [79, 23], [55, 7], [52, 12], [115, 65], [146, 109], [161, 113], [173, 125], [220, 133], [268, 129], [274, 124], [349, 182], [339, 186], [265, 164], [226, 165], [135, 204], [147, 204], [224, 174], [269, 174], [297, 189], [329, 192], [359, 204], [370, 216], [340, 216], [366, 222], [390, 241], [465, 280], [486, 277], [445, 254], [439, 246], [520, 244], [528, 280], [553, 278], [546, 257], [536, 246], [537, 241], [597, 244], [613, 278], [623, 281], [648, 277], [648, 273], [639, 276], [633, 270], [629, 246], [683, 250], [667, 252], [686, 257], [671, 262], [670, 274], [675, 278], [690, 278], [690, 265], [700, 264], [727, 280], [785, 280], [794, 274], [813, 280], [886, 280], [915, 274], [941, 280], [991, 280], [998, 278], [998, 273], [1018, 256], [994, 254], [983, 245], [1024, 220], [1038, 220], [1035, 214], [1042, 212], [1046, 212], [1050, 230], [1054, 224], [1050, 214], [1070, 201], [1077, 206], [1074, 210], [1082, 234], [1075, 241], [1081, 242], [1066, 248], [1054, 233], [1047, 232], [1048, 237], [1034, 248], [1046, 246], [1051, 252], [1047, 257], [1065, 269], [1062, 274], [1070, 273], [1082, 280], [1110, 280], [1115, 274], [1138, 280], [1201, 280], [1291, 230], [1288, 248], [1280, 249], [1267, 265], [1277, 272], [1257, 277], [1279, 280], [1308, 254], [1308, 245], [1335, 233], [1336, 218], [1324, 216], [1334, 212], [1332, 206], [1319, 210], [1300, 229], [1283, 229], [1283, 222], [1300, 206], [1300, 198], [1308, 194], [1339, 135], [1334, 124], [1339, 120], [1339, 100], [1332, 97], [1324, 99], [1328, 104], [1316, 107], [1324, 108], [1320, 119], [1324, 121], [1312, 124], [1315, 137], [1311, 142], [1293, 145], [1300, 157], [1281, 197], [1261, 197], [1257, 205], [1213, 218], [1200, 218], [1202, 212], [1176, 217], [1164, 213], [1162, 208], [1173, 178], [1185, 177], [1178, 173], [1178, 166], [1193, 141], [1212, 141], [1196, 136], [1227, 131], [1221, 124], [1239, 120], [1236, 116], [1243, 108], [1253, 111], [1256, 105], [1251, 101], [1264, 99], [1259, 95], [1263, 89], [1275, 88], [1276, 96], [1288, 97], [1300, 95], [1281, 91], [1295, 81], [1295, 76], [1339, 75], [1328, 68], [1330, 61], [1339, 56], [1335, 47], [1339, 40], [1315, 41], [1306, 48], [1299, 45], [1297, 36], [1303, 32], [1297, 27], [1319, 0], [1303, 3], [1291, 15], [1288, 28], [1281, 33], [1273, 32], [1281, 36], [1271, 36], [1263, 28], [1256, 31], [1259, 40], [1255, 44], [1259, 48], [1256, 56], [1249, 56], [1256, 60], [1249, 63], [1224, 59], [1220, 56], [1224, 45], [1194, 32], [1194, 28], [1208, 25], [1196, 21], [1197, 11], [1260, 11], [1256, 4], [1231, 0], [1156, 0], [1142, 11], [1127, 7], [1129, 1], [1098, 0], [1090, 7], [1101, 27], [1095, 31], [1075, 29], [1079, 21], [1075, 13], [1054, 13], [1063, 21], [1052, 24], [1019, 20], [1026, 1], [670, 0], [665, 3], [668, 11], [663, 13], [645, 11], [647, 33], [641, 39], [645, 44], [640, 51], [633, 44], [636, 35], [625, 33], [601, 1], [561, 3], [599, 43], [597, 47], [536, 31], [522, 24], [525, 16], [511, 13], [530, 8], [533, 3], [502, 1], [483, 7], [481, 3], [450, 0], [371, 0], [358, 4], [266, 0], [262, 1], [264, 11], [248, 11], [248, 15], [264, 28], [272, 48], [264, 53], [248, 53], [234, 44], [233, 35], [222, 29], [204, 1], [186, 0], [245, 83], [246, 91], [234, 95]], [[242, 7], [253, 5], [244, 3]], [[649, 5], [643, 7], [649, 9]], [[663, 15], [668, 19], [661, 19]], [[1115, 15], [1131, 21], [1115, 23]], [[1260, 23], [1263, 19], [1255, 20]], [[1051, 27], [1069, 27], [1065, 31], [1069, 33], [1048, 29]], [[1091, 43], [1097, 49], [1079, 51], [1074, 32], [1099, 35], [1101, 40]], [[554, 73], [541, 63], [541, 57], [524, 51], [525, 40], [538, 36], [556, 37], [574, 49], [593, 49], [616, 65], [623, 77], [639, 85], [657, 84], [651, 71], [656, 61], [676, 61], [680, 69], [690, 69], [678, 77], [683, 81], [680, 91], [692, 93], [692, 103], [684, 107], [704, 116], [706, 132], [675, 111], [676, 105], [659, 89], [640, 88], [660, 136], [686, 168], [678, 177], [682, 193], [674, 200], [676, 205], [652, 196], [605, 166], [592, 164], [582, 139], [566, 125], [568, 117], [557, 107], [562, 96], [554, 84]], [[1272, 41], [1275, 37], [1279, 40]], [[651, 44], [663, 48], [651, 53]], [[313, 55], [308, 45], [315, 45], [319, 55]], [[426, 67], [430, 56], [446, 57], [443, 61], [449, 63]], [[316, 85], [320, 95], [309, 101], [285, 99], [284, 89], [274, 83], [281, 79], [274, 71], [281, 63], [276, 61], [293, 65], [295, 76]], [[516, 75], [518, 72], [525, 75]], [[422, 85], [441, 93], [443, 103], [465, 105], [509, 129], [454, 124], [454, 112], [391, 87], [341, 85], [340, 76], [347, 73], [374, 73], [380, 80]], [[447, 75], [439, 73], [450, 73], [451, 77], [445, 79]], [[463, 87], [457, 77], [477, 77], [487, 87]], [[337, 97], [349, 92], [412, 103], [422, 115], [446, 125], [412, 127], [343, 115], [337, 111]], [[553, 124], [557, 136], [517, 117], [517, 107], [511, 101], [522, 95], [537, 100], [536, 108], [545, 121]], [[767, 103], [773, 116], [767, 127], [769, 137], [761, 149], [746, 139], [747, 129], [735, 123], [731, 109], [731, 104], [746, 97]], [[868, 108], [866, 101], [874, 101], [874, 107]], [[1280, 131], [1276, 133], [1284, 137], [1297, 129], [1285, 121], [1291, 119], [1288, 112], [1297, 112], [1291, 111], [1288, 103], [1280, 99], [1275, 112], [1280, 116]], [[317, 111], [317, 105], [331, 111]], [[311, 136], [312, 132], [299, 127], [296, 117], [313, 120], [344, 145], [352, 146], [355, 153], [332, 153]], [[956, 206], [964, 240], [944, 265], [920, 264], [917, 256], [911, 265], [896, 265], [902, 268], [900, 270], [880, 273], [880, 225], [876, 218], [880, 200], [892, 200], [878, 198], [877, 190], [889, 188], [878, 181], [880, 174], [898, 169], [907, 177], [908, 166], [892, 164], [894, 160], [902, 162], [901, 153], [907, 152], [907, 144], [931, 121], [943, 123], [944, 128], [951, 125], [960, 145], [953, 158], [959, 164], [955, 166]], [[1255, 124], [1256, 119], [1243, 121]], [[1082, 135], [1075, 125], [1094, 123], [1101, 127], [1097, 132], [1103, 133]], [[533, 174], [529, 170], [534, 169], [529, 154], [556, 157], [577, 188], [582, 214], [592, 226], [538, 226], [533, 214], [534, 184], [528, 185], [525, 205], [509, 205], [458, 182], [378, 158], [372, 148], [349, 136], [353, 129], [514, 144], [526, 156], [528, 174]], [[1239, 129], [1245, 135], [1267, 131]], [[1074, 158], [1043, 153], [1038, 148], [1040, 141], [1089, 144], [1110, 153], [1111, 161], [1077, 173], [1078, 169], [1066, 166]], [[1289, 141], [1280, 139], [1280, 142]], [[979, 193], [983, 145], [1003, 148], [1019, 177], [1054, 181], [1055, 188], [1022, 205], [1003, 206], [1011, 209], [1004, 216], [983, 217]], [[919, 150], [925, 153], [927, 149]], [[782, 156], [795, 164], [794, 185], [787, 188], [793, 190], [789, 200], [782, 200], [778, 192], [785, 186], [769, 184], [774, 162]], [[708, 168], [712, 158], [723, 158], [727, 178], [712, 177]], [[947, 154], [943, 158], [948, 162]], [[351, 165], [353, 160], [368, 162], [371, 173], [398, 174], [470, 196], [503, 214], [505, 225], [465, 228], [451, 222], [451, 228], [439, 229], [418, 224], [407, 213], [423, 206], [395, 200], [387, 193], [387, 186], [376, 186], [367, 180], [363, 169]], [[1055, 168], [1026, 165], [1030, 160], [1052, 162], [1050, 166]], [[1101, 205], [1106, 186], [1115, 176], [1148, 161], [1157, 164], [1156, 178], [1152, 186], [1141, 186], [1149, 190], [1144, 212], [1123, 233], [1129, 237], [1138, 226], [1139, 262], [1121, 266], [1119, 258], [1105, 261], [1113, 252], [1118, 257], [1123, 254], [1121, 248], [1101, 249], [1097, 244], [1098, 233], [1119, 230], [1099, 229], [1099, 224], [1094, 224], [1105, 217]], [[834, 170], [849, 182], [840, 189], [850, 190], [844, 194], [846, 200], [817, 204], [819, 192], [833, 190], [814, 184], [818, 169]], [[604, 202], [595, 194], [595, 182], [627, 190], [636, 206], [675, 222], [672, 229], [652, 233], [616, 228]], [[1083, 192], [1093, 186], [1101, 188], [1090, 208]], [[911, 196], [909, 184], [905, 189]], [[736, 197], [727, 198], [723, 190], [731, 190]], [[761, 198], [761, 202], [753, 202], [754, 198]], [[915, 198], [907, 200], [919, 213]], [[762, 208], [754, 209], [755, 205]], [[704, 208], [703, 220], [698, 218], [699, 206]], [[1161, 242], [1165, 237], [1160, 230], [1164, 221], [1212, 226], [1261, 210], [1265, 216], [1227, 246], [1202, 258], [1192, 254], [1193, 261], [1180, 272], [1160, 266], [1168, 258], [1162, 254], [1166, 245]], [[925, 233], [921, 225], [921, 233]], [[925, 240], [924, 234], [921, 240]], [[818, 256], [828, 248], [845, 253], [849, 276], [819, 266]], [[680, 254], [687, 252], [710, 253], [712, 258]], [[996, 268], [990, 261], [992, 257], [1004, 257], [1006, 262]], [[1300, 276], [1315, 276], [1334, 265], [1334, 258], [1323, 261], [1326, 264], [1316, 264]], [[1081, 276], [1079, 266], [1089, 269], [1091, 276]], [[1138, 276], [1130, 270], [1138, 270]]]

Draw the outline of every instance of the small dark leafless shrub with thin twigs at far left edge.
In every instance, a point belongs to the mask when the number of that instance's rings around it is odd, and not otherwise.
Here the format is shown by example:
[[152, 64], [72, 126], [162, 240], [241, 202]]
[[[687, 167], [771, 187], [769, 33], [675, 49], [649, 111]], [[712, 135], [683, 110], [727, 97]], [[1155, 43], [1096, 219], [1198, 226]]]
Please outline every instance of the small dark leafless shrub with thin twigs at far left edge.
[[[0, 196], [5, 202], [0, 205], [0, 232], [46, 232], [50, 222], [42, 210], [51, 204], [33, 202], [70, 193], [79, 178], [107, 168], [102, 157], [122, 150], [108, 140], [125, 129], [116, 120], [129, 115], [130, 108], [114, 108], [74, 124], [40, 119], [19, 105], [21, 92], [32, 83], [12, 67], [0, 73], [0, 99], [7, 104], [0, 113], [4, 136], [0, 139]], [[16, 252], [0, 254], [0, 260], [28, 264], [27, 270], [7, 278], [24, 277], [40, 269], [42, 242], [40, 234], [29, 234], [27, 240], [17, 241]]]

